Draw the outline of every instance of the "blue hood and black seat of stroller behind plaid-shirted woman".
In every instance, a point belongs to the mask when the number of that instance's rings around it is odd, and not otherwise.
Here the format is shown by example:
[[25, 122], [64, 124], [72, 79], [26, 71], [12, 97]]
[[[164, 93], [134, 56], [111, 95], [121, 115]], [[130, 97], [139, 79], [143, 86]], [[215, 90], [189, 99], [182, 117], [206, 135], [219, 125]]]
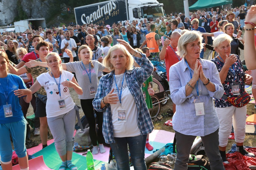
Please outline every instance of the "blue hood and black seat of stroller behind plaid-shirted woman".
[[154, 65], [154, 67], [156, 67], [156, 69], [157, 69], [156, 71], [153, 71], [153, 73], [152, 73], [153, 77], [161, 83], [161, 85], [163, 86], [163, 89], [165, 91], [168, 91], [169, 85], [168, 85], [168, 81], [167, 81], [166, 67], [164, 65], [162, 65], [162, 63], [160, 63], [159, 61], [157, 61], [155, 59], [149, 58], [149, 60]]

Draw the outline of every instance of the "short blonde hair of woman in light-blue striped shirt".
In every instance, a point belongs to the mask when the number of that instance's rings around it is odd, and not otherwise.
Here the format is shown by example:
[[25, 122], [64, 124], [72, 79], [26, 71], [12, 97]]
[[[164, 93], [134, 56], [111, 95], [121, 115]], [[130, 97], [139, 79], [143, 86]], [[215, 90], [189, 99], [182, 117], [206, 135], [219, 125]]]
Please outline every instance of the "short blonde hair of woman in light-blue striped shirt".
[[185, 32], [178, 41], [178, 51], [177, 54], [181, 57], [185, 57], [187, 55], [187, 44], [192, 43], [196, 40], [200, 41], [200, 50], [202, 47], [202, 34], [199, 31], [187, 31]]

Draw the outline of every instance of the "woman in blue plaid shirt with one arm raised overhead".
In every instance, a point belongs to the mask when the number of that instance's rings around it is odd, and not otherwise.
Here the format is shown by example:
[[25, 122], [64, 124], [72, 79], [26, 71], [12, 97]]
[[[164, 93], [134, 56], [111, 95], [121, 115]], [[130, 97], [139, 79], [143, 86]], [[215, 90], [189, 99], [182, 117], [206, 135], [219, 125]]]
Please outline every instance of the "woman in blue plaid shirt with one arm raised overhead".
[[[125, 40], [117, 40], [119, 44], [111, 47], [103, 60], [103, 65], [112, 71], [101, 77], [93, 106], [103, 111], [103, 136], [110, 143], [117, 168], [130, 169], [128, 143], [134, 169], [146, 170], [146, 138], [154, 127], [141, 86], [154, 67], [145, 54]], [[132, 68], [134, 60], [141, 67]]]

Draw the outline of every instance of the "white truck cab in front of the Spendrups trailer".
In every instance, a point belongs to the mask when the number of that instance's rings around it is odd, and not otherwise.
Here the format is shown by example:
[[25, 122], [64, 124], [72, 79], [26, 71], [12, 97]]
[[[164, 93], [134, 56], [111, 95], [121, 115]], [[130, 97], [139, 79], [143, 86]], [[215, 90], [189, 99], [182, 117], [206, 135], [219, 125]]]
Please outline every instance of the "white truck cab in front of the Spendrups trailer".
[[143, 20], [144, 18], [149, 21], [160, 16], [164, 16], [163, 4], [157, 0], [128, 0], [128, 11], [130, 20]]

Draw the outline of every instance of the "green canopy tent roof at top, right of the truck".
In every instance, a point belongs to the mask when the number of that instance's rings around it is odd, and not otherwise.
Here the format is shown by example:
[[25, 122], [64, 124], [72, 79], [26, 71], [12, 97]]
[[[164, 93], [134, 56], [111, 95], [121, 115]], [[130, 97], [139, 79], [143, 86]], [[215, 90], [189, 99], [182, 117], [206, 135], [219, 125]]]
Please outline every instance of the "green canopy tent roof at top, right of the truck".
[[189, 7], [189, 10], [198, 10], [202, 8], [220, 6], [233, 3], [232, 0], [198, 0]]

